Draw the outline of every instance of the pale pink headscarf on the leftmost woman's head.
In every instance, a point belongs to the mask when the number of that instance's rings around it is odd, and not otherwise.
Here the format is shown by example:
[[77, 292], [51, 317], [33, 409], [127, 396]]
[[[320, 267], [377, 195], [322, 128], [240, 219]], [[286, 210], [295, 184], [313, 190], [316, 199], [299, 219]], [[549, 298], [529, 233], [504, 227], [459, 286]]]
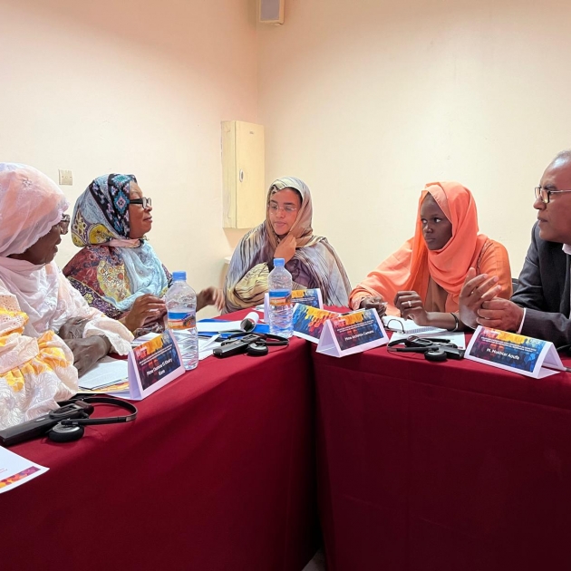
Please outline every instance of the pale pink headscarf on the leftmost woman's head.
[[25, 252], [62, 219], [67, 208], [62, 190], [43, 172], [0, 163], [0, 256]]

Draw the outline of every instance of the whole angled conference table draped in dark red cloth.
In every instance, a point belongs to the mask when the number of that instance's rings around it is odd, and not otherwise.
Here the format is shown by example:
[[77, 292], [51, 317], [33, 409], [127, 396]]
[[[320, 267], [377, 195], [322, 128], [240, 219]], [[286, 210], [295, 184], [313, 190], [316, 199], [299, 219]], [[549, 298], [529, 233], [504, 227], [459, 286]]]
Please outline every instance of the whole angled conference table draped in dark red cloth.
[[317, 503], [328, 571], [571, 569], [568, 373], [293, 338], [138, 406], [11, 449], [49, 471], [0, 494], [2, 570], [301, 571]]

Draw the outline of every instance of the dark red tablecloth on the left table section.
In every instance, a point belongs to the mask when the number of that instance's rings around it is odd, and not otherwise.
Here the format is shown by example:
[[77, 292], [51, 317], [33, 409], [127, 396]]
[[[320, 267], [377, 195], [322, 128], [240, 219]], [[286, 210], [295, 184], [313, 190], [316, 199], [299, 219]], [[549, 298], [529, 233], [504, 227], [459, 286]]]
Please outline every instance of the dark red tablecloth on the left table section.
[[318, 531], [311, 356], [299, 339], [270, 351], [200, 362], [132, 423], [13, 447], [50, 470], [0, 495], [0, 569], [302, 569]]

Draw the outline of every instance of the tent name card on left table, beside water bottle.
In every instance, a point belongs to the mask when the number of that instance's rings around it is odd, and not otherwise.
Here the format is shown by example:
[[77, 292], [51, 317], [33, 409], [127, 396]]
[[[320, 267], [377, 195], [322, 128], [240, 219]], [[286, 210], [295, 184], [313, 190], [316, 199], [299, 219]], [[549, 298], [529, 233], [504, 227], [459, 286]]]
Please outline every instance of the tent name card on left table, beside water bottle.
[[140, 401], [184, 373], [179, 347], [169, 330], [129, 353], [129, 396]]

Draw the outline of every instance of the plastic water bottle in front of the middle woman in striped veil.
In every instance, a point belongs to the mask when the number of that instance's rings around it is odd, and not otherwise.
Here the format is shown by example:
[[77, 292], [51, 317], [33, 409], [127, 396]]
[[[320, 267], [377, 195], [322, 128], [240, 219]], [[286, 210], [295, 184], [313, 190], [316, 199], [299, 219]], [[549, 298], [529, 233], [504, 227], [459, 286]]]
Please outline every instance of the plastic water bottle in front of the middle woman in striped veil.
[[274, 259], [274, 269], [270, 272], [267, 281], [270, 333], [291, 337], [294, 332], [292, 275], [285, 269], [283, 257]]

